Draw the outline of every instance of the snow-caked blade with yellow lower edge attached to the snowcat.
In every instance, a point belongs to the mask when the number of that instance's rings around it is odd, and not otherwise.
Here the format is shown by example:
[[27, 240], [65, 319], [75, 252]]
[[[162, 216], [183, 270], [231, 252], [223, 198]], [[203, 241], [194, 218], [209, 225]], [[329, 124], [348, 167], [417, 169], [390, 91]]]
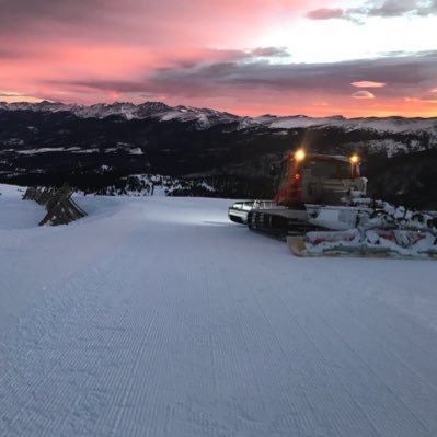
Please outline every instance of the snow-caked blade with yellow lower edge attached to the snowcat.
[[437, 260], [436, 235], [419, 230], [308, 232], [303, 237], [288, 237], [287, 243], [297, 256]]

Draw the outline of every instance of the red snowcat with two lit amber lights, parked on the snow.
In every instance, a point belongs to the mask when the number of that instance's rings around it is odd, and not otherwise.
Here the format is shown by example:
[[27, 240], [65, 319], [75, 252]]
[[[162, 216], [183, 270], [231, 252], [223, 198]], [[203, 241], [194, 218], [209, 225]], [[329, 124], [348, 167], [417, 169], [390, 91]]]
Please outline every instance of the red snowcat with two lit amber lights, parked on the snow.
[[286, 239], [299, 256], [437, 257], [437, 214], [411, 211], [367, 195], [360, 159], [288, 152], [272, 200], [229, 207], [230, 220]]

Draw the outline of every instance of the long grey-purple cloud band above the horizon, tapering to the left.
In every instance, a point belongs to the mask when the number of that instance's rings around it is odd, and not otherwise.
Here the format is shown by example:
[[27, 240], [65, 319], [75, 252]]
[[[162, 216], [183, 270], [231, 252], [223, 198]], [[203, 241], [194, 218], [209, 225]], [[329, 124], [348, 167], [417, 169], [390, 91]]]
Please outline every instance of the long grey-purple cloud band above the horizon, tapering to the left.
[[[319, 101], [349, 95], [350, 84], [378, 88], [380, 99], [422, 96], [435, 87], [437, 51], [417, 56], [363, 59], [331, 64], [271, 64], [267, 61], [197, 62], [188, 67], [156, 69], [135, 80], [101, 78], [45, 81], [50, 88], [74, 92], [151, 93], [172, 99], [251, 99], [267, 94], [312, 95]], [[368, 80], [372, 79], [372, 80]], [[383, 87], [390, 82], [390, 87]], [[354, 96], [371, 99], [366, 90]]]

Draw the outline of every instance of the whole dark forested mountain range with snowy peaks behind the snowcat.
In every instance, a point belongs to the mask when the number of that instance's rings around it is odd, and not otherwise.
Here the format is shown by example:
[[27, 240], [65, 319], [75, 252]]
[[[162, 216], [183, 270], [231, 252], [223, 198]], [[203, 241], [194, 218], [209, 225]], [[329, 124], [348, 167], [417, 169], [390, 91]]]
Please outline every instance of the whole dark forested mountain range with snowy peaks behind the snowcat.
[[[296, 147], [363, 157], [372, 195], [436, 208], [437, 117], [246, 117], [161, 102], [0, 102], [0, 181], [102, 192], [138, 174], [271, 197], [269, 166]], [[193, 183], [188, 186], [193, 194]], [[211, 195], [211, 191], [195, 194]]]

